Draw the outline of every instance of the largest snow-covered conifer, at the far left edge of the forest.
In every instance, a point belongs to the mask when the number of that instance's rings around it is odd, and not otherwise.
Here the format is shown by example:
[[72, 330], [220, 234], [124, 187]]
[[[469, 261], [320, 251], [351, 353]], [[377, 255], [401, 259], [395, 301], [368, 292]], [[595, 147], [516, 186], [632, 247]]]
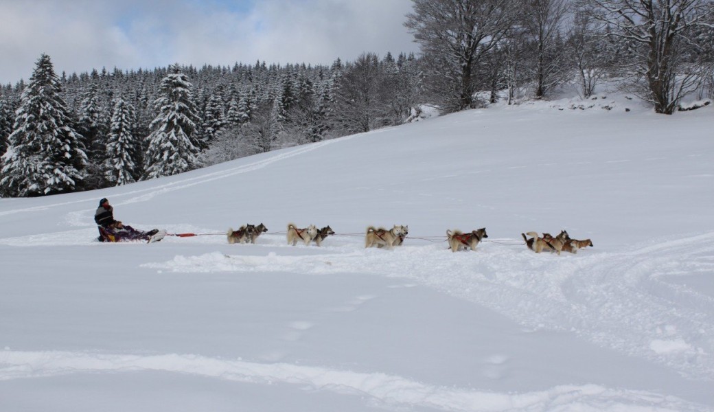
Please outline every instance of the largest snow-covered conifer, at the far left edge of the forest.
[[0, 186], [10, 196], [70, 192], [82, 181], [87, 162], [81, 136], [72, 128], [59, 77], [42, 54], [22, 92]]

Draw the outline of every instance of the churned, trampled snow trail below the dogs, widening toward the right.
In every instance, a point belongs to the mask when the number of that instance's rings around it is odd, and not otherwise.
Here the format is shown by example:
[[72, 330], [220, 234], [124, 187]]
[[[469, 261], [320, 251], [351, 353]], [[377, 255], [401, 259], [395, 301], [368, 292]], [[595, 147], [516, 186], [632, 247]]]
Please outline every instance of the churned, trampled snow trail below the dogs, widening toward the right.
[[476, 253], [451, 253], [441, 244], [390, 252], [362, 249], [355, 242], [324, 247], [317, 255], [214, 252], [143, 266], [183, 273], [383, 273], [480, 303], [527, 328], [571, 331], [683, 376], [714, 381], [714, 297], [665, 278], [714, 275], [709, 257], [714, 233], [618, 253], [583, 250], [562, 256], [498, 243], [482, 243]]

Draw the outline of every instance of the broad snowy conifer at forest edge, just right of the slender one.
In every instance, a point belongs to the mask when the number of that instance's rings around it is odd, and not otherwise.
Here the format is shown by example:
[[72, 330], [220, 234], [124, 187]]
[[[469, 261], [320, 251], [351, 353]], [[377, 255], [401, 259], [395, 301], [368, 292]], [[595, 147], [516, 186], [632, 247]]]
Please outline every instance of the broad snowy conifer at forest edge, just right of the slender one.
[[154, 101], [159, 114], [151, 122], [146, 151], [147, 179], [171, 176], [196, 167], [198, 148], [192, 142], [198, 116], [191, 99], [191, 83], [178, 65], [159, 86], [161, 96]]

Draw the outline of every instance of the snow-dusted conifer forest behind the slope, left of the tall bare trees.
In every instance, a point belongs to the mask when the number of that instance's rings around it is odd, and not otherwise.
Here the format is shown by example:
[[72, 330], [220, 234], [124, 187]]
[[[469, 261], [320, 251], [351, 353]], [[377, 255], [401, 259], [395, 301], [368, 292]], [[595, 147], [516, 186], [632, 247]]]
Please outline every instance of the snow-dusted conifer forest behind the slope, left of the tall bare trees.
[[418, 65], [365, 53], [58, 76], [43, 54], [27, 84], [0, 91], [0, 193], [99, 189], [402, 124], [419, 104]]

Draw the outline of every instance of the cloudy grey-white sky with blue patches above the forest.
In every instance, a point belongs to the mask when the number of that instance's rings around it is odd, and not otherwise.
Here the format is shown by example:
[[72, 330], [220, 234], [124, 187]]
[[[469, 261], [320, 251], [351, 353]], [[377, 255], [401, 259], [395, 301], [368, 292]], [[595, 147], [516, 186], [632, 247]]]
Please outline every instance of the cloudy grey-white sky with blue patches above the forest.
[[58, 74], [236, 62], [331, 64], [418, 52], [411, 0], [0, 0], [0, 84], [48, 54]]

